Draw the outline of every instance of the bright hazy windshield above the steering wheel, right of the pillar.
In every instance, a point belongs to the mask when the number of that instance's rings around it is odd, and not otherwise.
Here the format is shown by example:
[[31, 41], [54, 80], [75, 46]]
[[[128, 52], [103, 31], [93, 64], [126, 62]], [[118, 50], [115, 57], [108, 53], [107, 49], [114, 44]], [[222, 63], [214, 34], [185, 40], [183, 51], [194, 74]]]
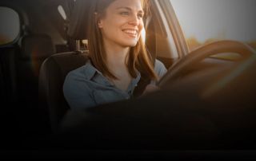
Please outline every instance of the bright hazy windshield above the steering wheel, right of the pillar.
[[191, 50], [218, 40], [243, 41], [256, 49], [254, 0], [170, 0]]

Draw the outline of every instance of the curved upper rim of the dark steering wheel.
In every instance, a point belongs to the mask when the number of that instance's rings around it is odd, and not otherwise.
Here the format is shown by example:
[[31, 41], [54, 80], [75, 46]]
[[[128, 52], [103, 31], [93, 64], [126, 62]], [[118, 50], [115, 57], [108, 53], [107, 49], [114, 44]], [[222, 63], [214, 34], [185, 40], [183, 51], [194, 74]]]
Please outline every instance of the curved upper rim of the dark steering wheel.
[[226, 40], [212, 42], [182, 57], [176, 64], [171, 66], [167, 73], [158, 81], [158, 86], [162, 88], [167, 82], [177, 78], [184, 69], [188, 69], [205, 58], [217, 53], [238, 53], [241, 55], [239, 61], [244, 61], [254, 54], [255, 51], [249, 45], [240, 41]]

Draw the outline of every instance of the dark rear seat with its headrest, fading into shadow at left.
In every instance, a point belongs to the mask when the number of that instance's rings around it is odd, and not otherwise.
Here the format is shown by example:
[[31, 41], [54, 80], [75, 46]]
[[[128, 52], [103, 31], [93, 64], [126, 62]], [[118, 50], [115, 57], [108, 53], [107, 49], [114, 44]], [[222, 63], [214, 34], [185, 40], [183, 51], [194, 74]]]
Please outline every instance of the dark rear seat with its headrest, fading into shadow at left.
[[[29, 33], [19, 42], [21, 52], [17, 56], [18, 103], [26, 107], [27, 118], [23, 126], [33, 133], [42, 133], [44, 120], [38, 108], [38, 73], [42, 62], [55, 53], [54, 43], [50, 36], [41, 33]], [[32, 132], [33, 131], [33, 132]]]

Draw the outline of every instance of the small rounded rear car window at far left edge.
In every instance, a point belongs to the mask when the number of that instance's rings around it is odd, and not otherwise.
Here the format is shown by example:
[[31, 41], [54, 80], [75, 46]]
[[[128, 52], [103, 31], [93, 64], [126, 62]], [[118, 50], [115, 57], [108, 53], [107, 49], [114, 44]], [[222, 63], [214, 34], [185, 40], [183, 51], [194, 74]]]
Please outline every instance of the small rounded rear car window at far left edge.
[[18, 13], [8, 7], [0, 6], [0, 45], [11, 43], [20, 32]]

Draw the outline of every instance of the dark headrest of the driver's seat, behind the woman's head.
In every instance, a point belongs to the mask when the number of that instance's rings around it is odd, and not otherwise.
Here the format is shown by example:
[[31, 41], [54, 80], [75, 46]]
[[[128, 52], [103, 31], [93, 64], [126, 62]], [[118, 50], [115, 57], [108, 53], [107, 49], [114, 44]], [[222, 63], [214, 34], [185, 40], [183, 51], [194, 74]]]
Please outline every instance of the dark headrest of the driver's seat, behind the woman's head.
[[84, 40], [87, 38], [87, 27], [89, 21], [90, 6], [94, 1], [76, 0], [74, 9], [70, 17], [68, 35], [74, 40]]

